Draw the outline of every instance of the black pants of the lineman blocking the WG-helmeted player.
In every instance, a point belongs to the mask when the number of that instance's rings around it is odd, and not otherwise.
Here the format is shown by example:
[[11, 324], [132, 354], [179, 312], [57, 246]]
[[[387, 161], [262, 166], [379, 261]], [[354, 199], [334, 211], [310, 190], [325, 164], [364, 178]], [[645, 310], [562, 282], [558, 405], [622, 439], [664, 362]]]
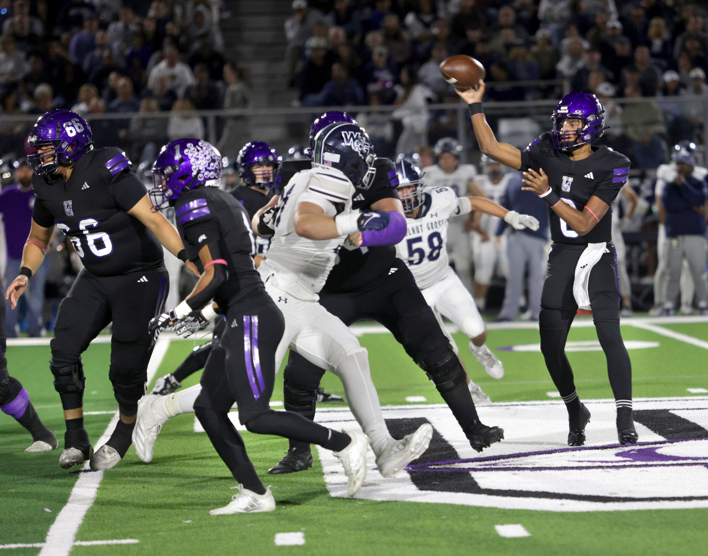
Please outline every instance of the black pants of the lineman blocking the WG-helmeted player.
[[[365, 319], [375, 320], [384, 325], [404, 347], [411, 359], [423, 369], [426, 369], [426, 366], [433, 366], [435, 362], [454, 353], [449, 340], [440, 330], [440, 324], [433, 311], [416, 286], [413, 274], [406, 263], [400, 259], [395, 260], [389, 274], [379, 278], [370, 286], [347, 294], [320, 293], [319, 302], [347, 326]], [[462, 366], [459, 364], [458, 366], [457, 372], [461, 372], [466, 377]], [[291, 350], [283, 372], [285, 409], [297, 411], [309, 419], [314, 419], [316, 390], [324, 373], [323, 369]], [[436, 386], [438, 386], [437, 381]], [[461, 390], [453, 395], [469, 397], [466, 378], [464, 390], [467, 396]], [[468, 408], [470, 405], [474, 407], [472, 398], [469, 402], [467, 399], [459, 400], [459, 403]], [[452, 401], [452, 404], [457, 405], [455, 401]], [[463, 408], [459, 412], [454, 412], [458, 417], [458, 413], [464, 414], [468, 411]], [[461, 425], [462, 420], [460, 419]], [[290, 447], [299, 451], [309, 448], [307, 444], [297, 442], [291, 442]]]

